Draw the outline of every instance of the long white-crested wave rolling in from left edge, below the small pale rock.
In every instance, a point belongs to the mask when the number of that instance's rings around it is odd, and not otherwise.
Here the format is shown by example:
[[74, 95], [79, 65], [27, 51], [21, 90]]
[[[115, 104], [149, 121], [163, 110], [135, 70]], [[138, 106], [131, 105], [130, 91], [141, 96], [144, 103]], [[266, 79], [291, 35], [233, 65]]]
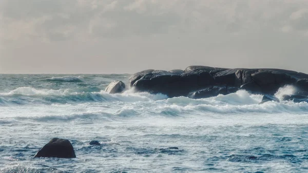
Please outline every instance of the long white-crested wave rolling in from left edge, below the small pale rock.
[[146, 102], [167, 99], [164, 94], [135, 92], [133, 89], [124, 93], [109, 94], [99, 88], [74, 89], [36, 89], [19, 87], [6, 93], [0, 93], [0, 105], [9, 104], [74, 104], [87, 102]]

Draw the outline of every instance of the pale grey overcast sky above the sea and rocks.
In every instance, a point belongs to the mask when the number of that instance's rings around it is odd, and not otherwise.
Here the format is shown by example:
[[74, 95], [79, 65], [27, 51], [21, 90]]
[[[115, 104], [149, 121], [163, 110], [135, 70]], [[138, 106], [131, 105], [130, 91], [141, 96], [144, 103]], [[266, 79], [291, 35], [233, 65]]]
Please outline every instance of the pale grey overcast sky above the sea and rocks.
[[0, 73], [190, 65], [308, 73], [308, 1], [0, 1]]

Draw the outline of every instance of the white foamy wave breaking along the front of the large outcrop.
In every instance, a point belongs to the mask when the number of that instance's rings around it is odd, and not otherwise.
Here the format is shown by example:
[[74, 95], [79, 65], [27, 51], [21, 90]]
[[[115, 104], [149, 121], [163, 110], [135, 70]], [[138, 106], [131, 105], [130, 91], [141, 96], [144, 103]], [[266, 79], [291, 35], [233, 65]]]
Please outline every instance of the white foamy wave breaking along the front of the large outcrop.
[[[165, 116], [183, 114], [238, 114], [238, 113], [304, 113], [308, 111], [308, 103], [266, 102], [259, 105], [263, 95], [249, 94], [245, 90], [227, 95], [218, 95], [206, 99], [189, 99], [185, 97], [167, 99], [167, 104], [158, 105], [158, 112]], [[162, 102], [162, 101], [158, 101]]]

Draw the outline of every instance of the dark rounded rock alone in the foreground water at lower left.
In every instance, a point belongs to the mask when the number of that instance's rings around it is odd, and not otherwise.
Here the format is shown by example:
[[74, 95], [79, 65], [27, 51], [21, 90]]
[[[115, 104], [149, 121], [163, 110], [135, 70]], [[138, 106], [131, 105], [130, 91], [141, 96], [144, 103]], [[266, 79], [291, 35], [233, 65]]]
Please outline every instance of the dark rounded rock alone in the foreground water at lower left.
[[34, 157], [75, 158], [75, 151], [67, 139], [53, 138]]

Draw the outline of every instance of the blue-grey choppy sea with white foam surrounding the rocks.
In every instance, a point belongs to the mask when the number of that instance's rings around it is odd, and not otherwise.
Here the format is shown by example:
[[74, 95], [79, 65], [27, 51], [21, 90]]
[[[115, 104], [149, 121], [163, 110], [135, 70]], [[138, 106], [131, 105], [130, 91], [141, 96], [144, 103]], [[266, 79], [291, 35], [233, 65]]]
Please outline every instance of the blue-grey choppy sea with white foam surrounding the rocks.
[[[0, 172], [308, 172], [307, 103], [104, 92], [128, 78], [0, 74]], [[77, 158], [33, 158], [54, 137]]]

